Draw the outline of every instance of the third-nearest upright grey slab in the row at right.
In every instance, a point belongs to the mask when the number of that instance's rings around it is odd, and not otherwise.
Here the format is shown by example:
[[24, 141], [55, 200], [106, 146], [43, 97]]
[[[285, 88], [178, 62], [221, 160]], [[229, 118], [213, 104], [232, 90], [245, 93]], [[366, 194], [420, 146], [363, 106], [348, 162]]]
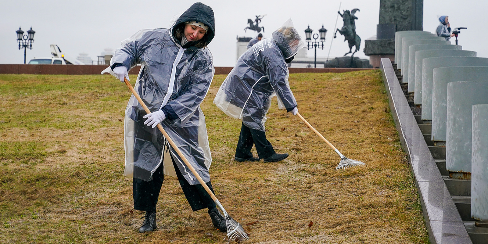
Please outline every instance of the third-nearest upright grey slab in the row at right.
[[432, 79], [432, 135], [433, 142], [446, 142], [447, 84], [453, 81], [486, 81], [488, 62], [480, 67], [435, 68]]

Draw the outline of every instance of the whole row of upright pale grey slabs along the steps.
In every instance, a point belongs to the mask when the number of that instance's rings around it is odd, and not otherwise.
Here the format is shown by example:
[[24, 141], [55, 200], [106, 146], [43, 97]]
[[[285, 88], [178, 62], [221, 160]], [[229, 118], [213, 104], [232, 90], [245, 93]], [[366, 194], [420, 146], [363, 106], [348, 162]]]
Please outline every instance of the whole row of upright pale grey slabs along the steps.
[[452, 179], [471, 179], [471, 217], [488, 221], [488, 58], [426, 31], [395, 33], [395, 61], [408, 96], [446, 149]]

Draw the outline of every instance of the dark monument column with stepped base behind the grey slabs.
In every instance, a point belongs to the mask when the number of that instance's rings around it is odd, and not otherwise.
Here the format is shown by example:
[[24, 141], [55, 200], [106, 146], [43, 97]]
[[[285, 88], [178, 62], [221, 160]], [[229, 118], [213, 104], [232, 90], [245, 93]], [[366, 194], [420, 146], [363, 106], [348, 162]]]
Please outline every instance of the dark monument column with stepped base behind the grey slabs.
[[365, 40], [364, 52], [373, 67], [381, 58], [394, 60], [395, 32], [423, 30], [424, 0], [380, 0], [380, 20], [376, 36]]

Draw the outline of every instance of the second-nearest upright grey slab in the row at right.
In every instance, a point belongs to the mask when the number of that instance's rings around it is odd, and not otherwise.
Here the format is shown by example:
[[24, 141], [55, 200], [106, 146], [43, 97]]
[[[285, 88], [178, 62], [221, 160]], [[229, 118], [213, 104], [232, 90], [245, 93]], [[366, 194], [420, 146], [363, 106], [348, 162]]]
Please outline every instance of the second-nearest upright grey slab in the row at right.
[[488, 103], [488, 81], [455, 81], [447, 84], [446, 170], [449, 176], [471, 176], [472, 106]]

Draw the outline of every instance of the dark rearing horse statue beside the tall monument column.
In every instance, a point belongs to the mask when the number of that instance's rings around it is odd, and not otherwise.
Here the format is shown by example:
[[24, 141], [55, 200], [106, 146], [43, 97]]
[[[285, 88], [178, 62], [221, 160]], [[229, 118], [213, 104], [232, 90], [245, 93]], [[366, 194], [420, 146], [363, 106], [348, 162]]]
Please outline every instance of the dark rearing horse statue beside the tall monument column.
[[[334, 38], [336, 38], [337, 32], [339, 32], [341, 35], [344, 36], [344, 41], [347, 40], [349, 43], [349, 52], [346, 53], [344, 56], [352, 52], [352, 47], [356, 46], [356, 50], [354, 53], [359, 51], [359, 46], [361, 45], [361, 38], [356, 34], [356, 24], [354, 20], [357, 20], [358, 18], [354, 16], [356, 11], [359, 11], [359, 9], [355, 8], [349, 12], [349, 10], [344, 10], [343, 14], [341, 12], [339, 15], [342, 17], [342, 20], [344, 21], [344, 26], [342, 29], [337, 29], [336, 32], [334, 33]], [[351, 54], [351, 57], [354, 56], [354, 53]]]

